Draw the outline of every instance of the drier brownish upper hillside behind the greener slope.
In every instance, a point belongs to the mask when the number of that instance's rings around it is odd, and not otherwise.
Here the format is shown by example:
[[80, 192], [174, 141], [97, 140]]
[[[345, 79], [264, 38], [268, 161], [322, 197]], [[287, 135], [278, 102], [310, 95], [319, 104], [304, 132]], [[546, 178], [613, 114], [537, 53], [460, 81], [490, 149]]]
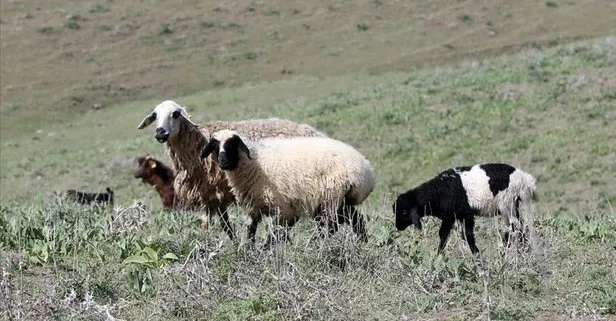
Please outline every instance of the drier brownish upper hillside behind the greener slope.
[[616, 31], [611, 1], [7, 0], [0, 6], [3, 135], [17, 135], [15, 127], [35, 130], [41, 113], [57, 121], [115, 101], [298, 75], [409, 71]]

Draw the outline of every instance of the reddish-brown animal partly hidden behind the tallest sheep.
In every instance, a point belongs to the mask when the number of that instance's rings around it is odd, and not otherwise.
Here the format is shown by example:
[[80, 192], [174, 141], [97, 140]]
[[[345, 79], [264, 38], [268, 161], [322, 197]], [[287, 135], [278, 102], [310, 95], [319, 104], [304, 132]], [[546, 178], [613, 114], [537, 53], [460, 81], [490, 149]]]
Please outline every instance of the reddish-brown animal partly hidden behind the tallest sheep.
[[139, 167], [135, 171], [135, 178], [141, 178], [143, 183], [154, 186], [165, 209], [174, 209], [173, 170], [151, 156], [139, 157], [137, 162]]

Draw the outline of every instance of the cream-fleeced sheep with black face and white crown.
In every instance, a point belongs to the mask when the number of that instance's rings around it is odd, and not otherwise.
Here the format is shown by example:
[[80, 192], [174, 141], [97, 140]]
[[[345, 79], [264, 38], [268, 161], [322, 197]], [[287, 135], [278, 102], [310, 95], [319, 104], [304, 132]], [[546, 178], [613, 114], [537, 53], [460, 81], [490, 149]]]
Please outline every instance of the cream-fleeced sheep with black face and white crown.
[[[262, 216], [272, 214], [284, 229], [276, 234], [286, 236], [286, 230], [308, 214], [321, 228], [331, 223], [330, 234], [350, 219], [355, 234], [367, 241], [364, 218], [356, 206], [374, 189], [376, 174], [352, 146], [327, 137], [250, 141], [227, 129], [212, 134], [200, 157], [210, 154], [251, 220], [247, 234], [252, 243]], [[272, 241], [270, 235], [265, 246]]]

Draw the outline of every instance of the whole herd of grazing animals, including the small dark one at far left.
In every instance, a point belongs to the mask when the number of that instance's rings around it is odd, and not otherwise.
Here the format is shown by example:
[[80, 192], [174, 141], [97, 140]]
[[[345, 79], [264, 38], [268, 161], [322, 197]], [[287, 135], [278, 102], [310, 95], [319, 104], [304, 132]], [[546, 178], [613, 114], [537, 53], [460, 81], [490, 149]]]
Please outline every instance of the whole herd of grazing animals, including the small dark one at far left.
[[[202, 212], [201, 229], [216, 215], [229, 238], [235, 238], [227, 210], [236, 204], [249, 219], [247, 236], [252, 243], [262, 218], [273, 217], [276, 228], [266, 247], [287, 240], [301, 217], [314, 219], [321, 237], [349, 224], [359, 240], [368, 240], [357, 207], [374, 190], [377, 175], [353, 146], [310, 125], [279, 118], [198, 125], [172, 100], [158, 104], [138, 129], [151, 124], [172, 167], [150, 156], [139, 157], [135, 178], [154, 187], [165, 209]], [[67, 194], [80, 203], [113, 204], [109, 188], [107, 193]], [[477, 253], [475, 216], [500, 215], [507, 228], [503, 242], [509, 244], [511, 235], [526, 242], [524, 218], [532, 214], [534, 200], [538, 192], [531, 174], [508, 164], [484, 163], [441, 172], [398, 195], [392, 212], [399, 231], [409, 226], [422, 229], [424, 216], [439, 218], [439, 254], [457, 220], [471, 252]]]

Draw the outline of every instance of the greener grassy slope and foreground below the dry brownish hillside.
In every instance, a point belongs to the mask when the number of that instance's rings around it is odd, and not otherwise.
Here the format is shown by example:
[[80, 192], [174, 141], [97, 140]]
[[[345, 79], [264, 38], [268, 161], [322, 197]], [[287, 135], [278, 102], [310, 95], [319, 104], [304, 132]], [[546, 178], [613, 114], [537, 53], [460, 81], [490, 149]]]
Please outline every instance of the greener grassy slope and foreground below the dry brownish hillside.
[[[0, 261], [10, 272], [0, 311], [29, 320], [614, 319], [613, 79], [616, 39], [606, 38], [410, 73], [297, 76], [169, 97], [197, 122], [307, 122], [371, 160], [378, 186], [362, 205], [368, 244], [348, 228], [312, 239], [314, 223], [302, 220], [274, 252], [246, 246], [241, 210], [232, 213], [233, 243], [218, 224], [199, 232], [198, 213], [162, 212], [132, 177], [134, 157], [169, 162], [153, 130], [136, 129], [167, 97], [34, 128], [30, 116], [0, 146]], [[395, 230], [395, 193], [485, 161], [538, 178], [531, 252], [499, 248], [497, 220], [477, 224], [481, 258], [457, 231], [437, 257], [435, 219], [421, 233]], [[117, 212], [52, 195], [104, 186], [115, 190]], [[262, 224], [259, 245], [270, 227]]]

